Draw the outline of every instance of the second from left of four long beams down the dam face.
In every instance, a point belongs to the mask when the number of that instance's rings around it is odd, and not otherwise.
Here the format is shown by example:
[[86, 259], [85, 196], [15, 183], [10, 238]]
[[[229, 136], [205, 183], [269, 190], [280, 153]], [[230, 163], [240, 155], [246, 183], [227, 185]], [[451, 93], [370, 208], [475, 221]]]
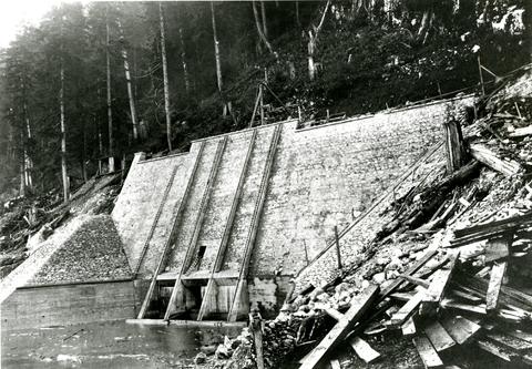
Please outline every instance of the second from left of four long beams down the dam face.
[[202, 196], [202, 202], [200, 203], [200, 209], [198, 209], [196, 219], [194, 222], [194, 233], [193, 233], [193, 236], [191, 238], [191, 242], [188, 243], [188, 247], [186, 248], [186, 254], [185, 254], [185, 257], [183, 259], [183, 264], [181, 266], [180, 275], [178, 275], [177, 279], [175, 280], [174, 288], [173, 288], [172, 295], [170, 297], [168, 306], [166, 308], [166, 312], [164, 314], [164, 320], [170, 319], [170, 316], [172, 315], [172, 312], [174, 310], [174, 306], [175, 306], [175, 301], [177, 299], [178, 293], [182, 291], [182, 289], [184, 288], [181, 278], [183, 277], [183, 275], [186, 274], [186, 270], [188, 269], [191, 260], [192, 260], [193, 255], [195, 253], [197, 238], [200, 237], [200, 230], [202, 228], [203, 221], [205, 218], [206, 207], [207, 207], [207, 204], [208, 204], [208, 199], [211, 197], [211, 192], [213, 189], [214, 182], [216, 180], [216, 175], [218, 173], [219, 162], [222, 161], [222, 155], [223, 155], [223, 152], [225, 150], [226, 144], [227, 144], [227, 136], [225, 135], [222, 140], [218, 141], [218, 145], [216, 147], [216, 153], [214, 155], [214, 161], [213, 161], [213, 164], [211, 166], [211, 172], [208, 174], [207, 184], [205, 185], [205, 189], [204, 189], [203, 196]]

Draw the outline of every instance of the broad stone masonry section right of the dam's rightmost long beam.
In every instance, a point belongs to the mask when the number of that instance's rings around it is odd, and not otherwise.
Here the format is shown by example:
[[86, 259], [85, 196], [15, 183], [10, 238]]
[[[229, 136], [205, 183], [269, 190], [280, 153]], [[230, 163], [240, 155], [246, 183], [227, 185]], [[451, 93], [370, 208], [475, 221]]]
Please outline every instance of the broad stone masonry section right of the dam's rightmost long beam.
[[295, 275], [359, 212], [442, 137], [441, 125], [472, 98], [340, 123], [283, 127], [257, 245], [254, 277]]

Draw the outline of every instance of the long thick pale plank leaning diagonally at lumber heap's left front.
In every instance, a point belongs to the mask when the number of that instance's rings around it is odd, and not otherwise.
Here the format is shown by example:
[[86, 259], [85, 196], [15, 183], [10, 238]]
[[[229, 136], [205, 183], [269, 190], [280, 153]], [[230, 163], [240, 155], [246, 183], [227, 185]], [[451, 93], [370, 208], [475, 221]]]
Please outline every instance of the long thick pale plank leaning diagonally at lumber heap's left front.
[[336, 345], [342, 341], [349, 329], [360, 319], [360, 317], [372, 306], [379, 294], [379, 287], [371, 285], [359, 295], [351, 299], [351, 307], [344, 315], [344, 319], [338, 321], [327, 336], [313, 350], [311, 355], [305, 359], [299, 369], [313, 369], [324, 358], [324, 356]]

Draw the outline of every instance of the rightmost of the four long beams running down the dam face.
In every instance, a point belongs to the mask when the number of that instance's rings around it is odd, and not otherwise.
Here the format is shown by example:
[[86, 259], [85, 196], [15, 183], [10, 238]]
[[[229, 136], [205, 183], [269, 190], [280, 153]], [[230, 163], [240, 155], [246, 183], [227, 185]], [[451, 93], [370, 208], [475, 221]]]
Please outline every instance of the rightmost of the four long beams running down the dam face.
[[[257, 202], [255, 203], [255, 208], [252, 215], [252, 224], [249, 227], [249, 232], [247, 234], [246, 249], [244, 252], [244, 259], [241, 265], [237, 286], [242, 284], [243, 279], [247, 278], [249, 260], [252, 259], [253, 249], [255, 247], [255, 239], [257, 237], [258, 226], [260, 224], [264, 202], [266, 199], [266, 193], [268, 191], [269, 177], [272, 174], [272, 167], [274, 165], [275, 154], [277, 152], [282, 129], [283, 129], [283, 125], [277, 124], [272, 135], [272, 141], [268, 148], [268, 156], [266, 157], [266, 163], [264, 164], [263, 177], [260, 180], [260, 186], [258, 187], [258, 198], [257, 198]], [[247, 281], [246, 281], [246, 286], [247, 286]], [[239, 303], [238, 303], [238, 295], [236, 295], [237, 293], [238, 293], [238, 288], [235, 291], [235, 297], [233, 298], [233, 305], [231, 307], [229, 314], [227, 315], [227, 320], [229, 321], [234, 321], [237, 319], [238, 309], [242, 308], [242, 306], [238, 306]]]

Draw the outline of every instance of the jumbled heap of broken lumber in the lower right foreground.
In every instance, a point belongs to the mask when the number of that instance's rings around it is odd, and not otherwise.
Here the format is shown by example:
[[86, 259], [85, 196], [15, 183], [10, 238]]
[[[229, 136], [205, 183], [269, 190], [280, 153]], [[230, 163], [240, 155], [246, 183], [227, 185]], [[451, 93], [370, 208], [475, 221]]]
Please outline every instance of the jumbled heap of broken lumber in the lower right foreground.
[[[342, 345], [351, 348], [361, 361], [381, 360], [382, 353], [371, 347], [370, 341], [390, 331], [398, 331], [412, 341], [426, 368], [460, 366], [452, 359], [449, 361], [449, 352], [467, 355], [471, 346], [497, 360], [516, 366], [532, 363], [532, 295], [510, 287], [505, 275], [512, 263], [512, 242], [521, 239], [523, 229], [531, 227], [531, 214], [526, 213], [456, 229], [457, 238], [452, 242], [460, 240], [463, 245], [464, 237], [470, 237], [471, 243], [482, 238], [484, 253], [462, 257], [454, 247], [427, 250], [381, 289], [379, 298], [368, 298], [367, 293], [362, 293], [359, 299], [364, 304], [350, 304], [348, 311], [364, 305], [364, 319], [336, 310], [334, 299], [324, 296], [327, 294], [323, 289], [310, 293], [307, 289], [306, 298], [298, 296], [296, 304], [304, 300], [313, 305], [311, 300], [319, 300], [314, 304], [314, 319], [317, 320], [321, 311], [337, 324], [321, 341], [313, 334], [298, 335], [298, 340], [319, 341], [308, 348], [309, 353], [299, 361], [300, 368], [338, 361], [328, 352], [340, 337], [348, 337]], [[502, 238], [501, 229], [504, 230]], [[532, 244], [532, 239], [530, 242]], [[434, 263], [437, 258], [440, 260]], [[482, 264], [478, 263], [480, 259]]]

